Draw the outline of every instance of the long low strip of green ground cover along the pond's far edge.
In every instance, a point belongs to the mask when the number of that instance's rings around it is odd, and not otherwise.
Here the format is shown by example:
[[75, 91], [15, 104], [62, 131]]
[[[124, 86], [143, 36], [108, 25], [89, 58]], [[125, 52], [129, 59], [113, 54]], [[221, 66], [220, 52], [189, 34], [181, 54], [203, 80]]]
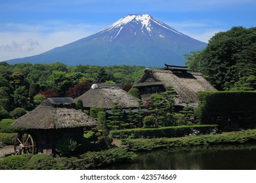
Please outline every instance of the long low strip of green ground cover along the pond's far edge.
[[217, 135], [200, 135], [179, 138], [158, 138], [158, 139], [123, 139], [122, 144], [127, 145], [132, 151], [148, 151], [156, 148], [174, 146], [197, 146], [224, 143], [244, 143], [256, 141], [256, 129], [234, 131]]

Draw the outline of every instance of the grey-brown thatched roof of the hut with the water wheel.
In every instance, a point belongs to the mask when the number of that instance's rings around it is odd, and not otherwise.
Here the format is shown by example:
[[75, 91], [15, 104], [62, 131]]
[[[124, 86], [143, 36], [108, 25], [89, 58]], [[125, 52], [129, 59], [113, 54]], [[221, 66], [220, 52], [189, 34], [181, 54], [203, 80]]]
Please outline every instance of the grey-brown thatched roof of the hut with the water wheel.
[[72, 98], [49, 98], [37, 108], [18, 118], [13, 127], [22, 129], [60, 129], [96, 125], [87, 114], [74, 108]]

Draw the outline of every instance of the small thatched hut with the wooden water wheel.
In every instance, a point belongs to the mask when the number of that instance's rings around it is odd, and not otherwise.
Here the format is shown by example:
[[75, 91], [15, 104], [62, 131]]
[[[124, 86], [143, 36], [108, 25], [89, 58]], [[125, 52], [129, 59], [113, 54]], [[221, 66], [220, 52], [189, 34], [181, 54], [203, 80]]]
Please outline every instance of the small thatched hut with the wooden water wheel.
[[79, 142], [83, 138], [83, 127], [94, 125], [97, 122], [93, 118], [75, 109], [74, 99], [48, 98], [12, 123], [13, 127], [25, 131], [17, 137], [14, 150], [18, 154], [54, 154], [54, 147], [60, 139], [68, 138]]

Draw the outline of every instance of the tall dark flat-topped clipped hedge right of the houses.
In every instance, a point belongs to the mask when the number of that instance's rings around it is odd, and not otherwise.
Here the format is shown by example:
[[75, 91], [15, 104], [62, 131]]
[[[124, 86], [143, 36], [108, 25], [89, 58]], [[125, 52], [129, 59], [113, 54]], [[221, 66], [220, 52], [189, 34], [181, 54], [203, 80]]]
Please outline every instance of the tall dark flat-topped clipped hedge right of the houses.
[[196, 113], [202, 124], [228, 127], [237, 114], [239, 127], [255, 127], [256, 92], [198, 92], [198, 97]]

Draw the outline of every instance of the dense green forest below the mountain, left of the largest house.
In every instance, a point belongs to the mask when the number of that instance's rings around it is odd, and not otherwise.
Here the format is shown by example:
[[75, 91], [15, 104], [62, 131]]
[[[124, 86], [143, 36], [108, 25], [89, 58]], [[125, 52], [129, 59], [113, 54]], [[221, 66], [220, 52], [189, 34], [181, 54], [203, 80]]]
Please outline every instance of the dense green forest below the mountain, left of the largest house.
[[32, 110], [44, 97], [78, 97], [96, 82], [120, 83], [129, 90], [143, 71], [144, 67], [128, 65], [70, 67], [63, 63], [0, 62], [0, 118], [18, 111], [16, 108]]

